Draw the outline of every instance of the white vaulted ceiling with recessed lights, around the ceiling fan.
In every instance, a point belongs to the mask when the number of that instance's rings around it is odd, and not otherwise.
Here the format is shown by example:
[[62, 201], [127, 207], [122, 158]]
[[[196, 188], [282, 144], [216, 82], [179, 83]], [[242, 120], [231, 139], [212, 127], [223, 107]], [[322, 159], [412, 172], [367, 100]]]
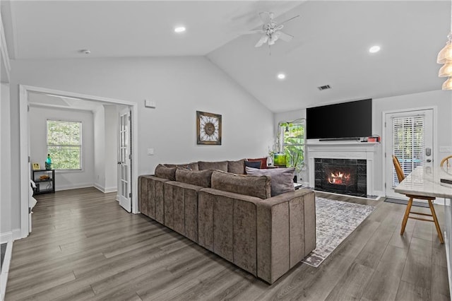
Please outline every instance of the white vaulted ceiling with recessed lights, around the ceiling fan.
[[[299, 15], [283, 28], [293, 40], [255, 48], [261, 35], [242, 33], [261, 11]], [[450, 11], [434, 0], [1, 1], [11, 59], [206, 56], [273, 112], [440, 89]]]

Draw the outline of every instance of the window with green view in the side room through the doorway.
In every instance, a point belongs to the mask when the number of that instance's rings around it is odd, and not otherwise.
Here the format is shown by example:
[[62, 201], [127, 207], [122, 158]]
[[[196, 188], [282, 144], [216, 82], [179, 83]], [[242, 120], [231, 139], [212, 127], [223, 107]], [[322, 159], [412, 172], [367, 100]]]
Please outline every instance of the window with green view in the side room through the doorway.
[[47, 153], [54, 170], [81, 170], [82, 123], [47, 119]]

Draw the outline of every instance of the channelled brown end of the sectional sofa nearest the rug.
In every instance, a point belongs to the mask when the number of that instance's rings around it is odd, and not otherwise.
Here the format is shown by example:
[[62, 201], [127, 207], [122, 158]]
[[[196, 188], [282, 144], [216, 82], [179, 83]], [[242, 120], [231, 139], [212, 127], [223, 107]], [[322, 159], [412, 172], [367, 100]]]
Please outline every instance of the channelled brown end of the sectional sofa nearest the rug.
[[314, 191], [299, 189], [257, 203], [259, 278], [273, 283], [315, 247]]

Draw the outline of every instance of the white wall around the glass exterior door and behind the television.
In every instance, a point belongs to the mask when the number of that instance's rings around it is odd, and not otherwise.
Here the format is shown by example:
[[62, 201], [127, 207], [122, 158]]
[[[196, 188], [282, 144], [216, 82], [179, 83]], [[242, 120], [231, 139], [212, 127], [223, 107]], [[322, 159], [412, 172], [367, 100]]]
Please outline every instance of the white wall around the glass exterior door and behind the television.
[[[424, 93], [415, 93], [410, 95], [398, 95], [390, 98], [376, 98], [372, 100], [372, 133], [381, 136], [385, 140], [382, 118], [383, 112], [394, 110], [407, 110], [420, 107], [436, 107], [436, 119], [434, 120], [434, 130], [436, 131], [436, 163], [450, 153], [441, 153], [440, 146], [452, 146], [452, 96], [450, 91], [434, 90]], [[297, 110], [292, 112], [275, 114], [275, 131], [278, 128], [278, 122], [285, 120], [293, 120], [306, 117], [306, 110]], [[383, 193], [383, 155], [382, 145], [375, 146], [375, 175], [374, 190]], [[309, 153], [307, 153], [309, 158]], [[302, 175], [306, 177], [303, 182], [309, 182], [307, 172]]]

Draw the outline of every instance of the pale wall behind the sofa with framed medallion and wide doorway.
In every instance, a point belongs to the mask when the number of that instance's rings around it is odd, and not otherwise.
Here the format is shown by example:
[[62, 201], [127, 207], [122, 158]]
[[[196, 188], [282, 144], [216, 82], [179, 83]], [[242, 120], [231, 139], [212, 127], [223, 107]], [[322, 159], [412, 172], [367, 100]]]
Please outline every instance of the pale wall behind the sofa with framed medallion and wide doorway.
[[[18, 84], [137, 102], [138, 174], [158, 163], [267, 155], [273, 113], [204, 57], [11, 61], [11, 144], [19, 164]], [[156, 109], [144, 107], [155, 100]], [[196, 110], [222, 114], [222, 145], [196, 145]], [[146, 155], [154, 148], [155, 155]], [[19, 199], [19, 170], [12, 171]], [[133, 179], [136, 185], [136, 179]], [[20, 204], [13, 204], [20, 225]]]

